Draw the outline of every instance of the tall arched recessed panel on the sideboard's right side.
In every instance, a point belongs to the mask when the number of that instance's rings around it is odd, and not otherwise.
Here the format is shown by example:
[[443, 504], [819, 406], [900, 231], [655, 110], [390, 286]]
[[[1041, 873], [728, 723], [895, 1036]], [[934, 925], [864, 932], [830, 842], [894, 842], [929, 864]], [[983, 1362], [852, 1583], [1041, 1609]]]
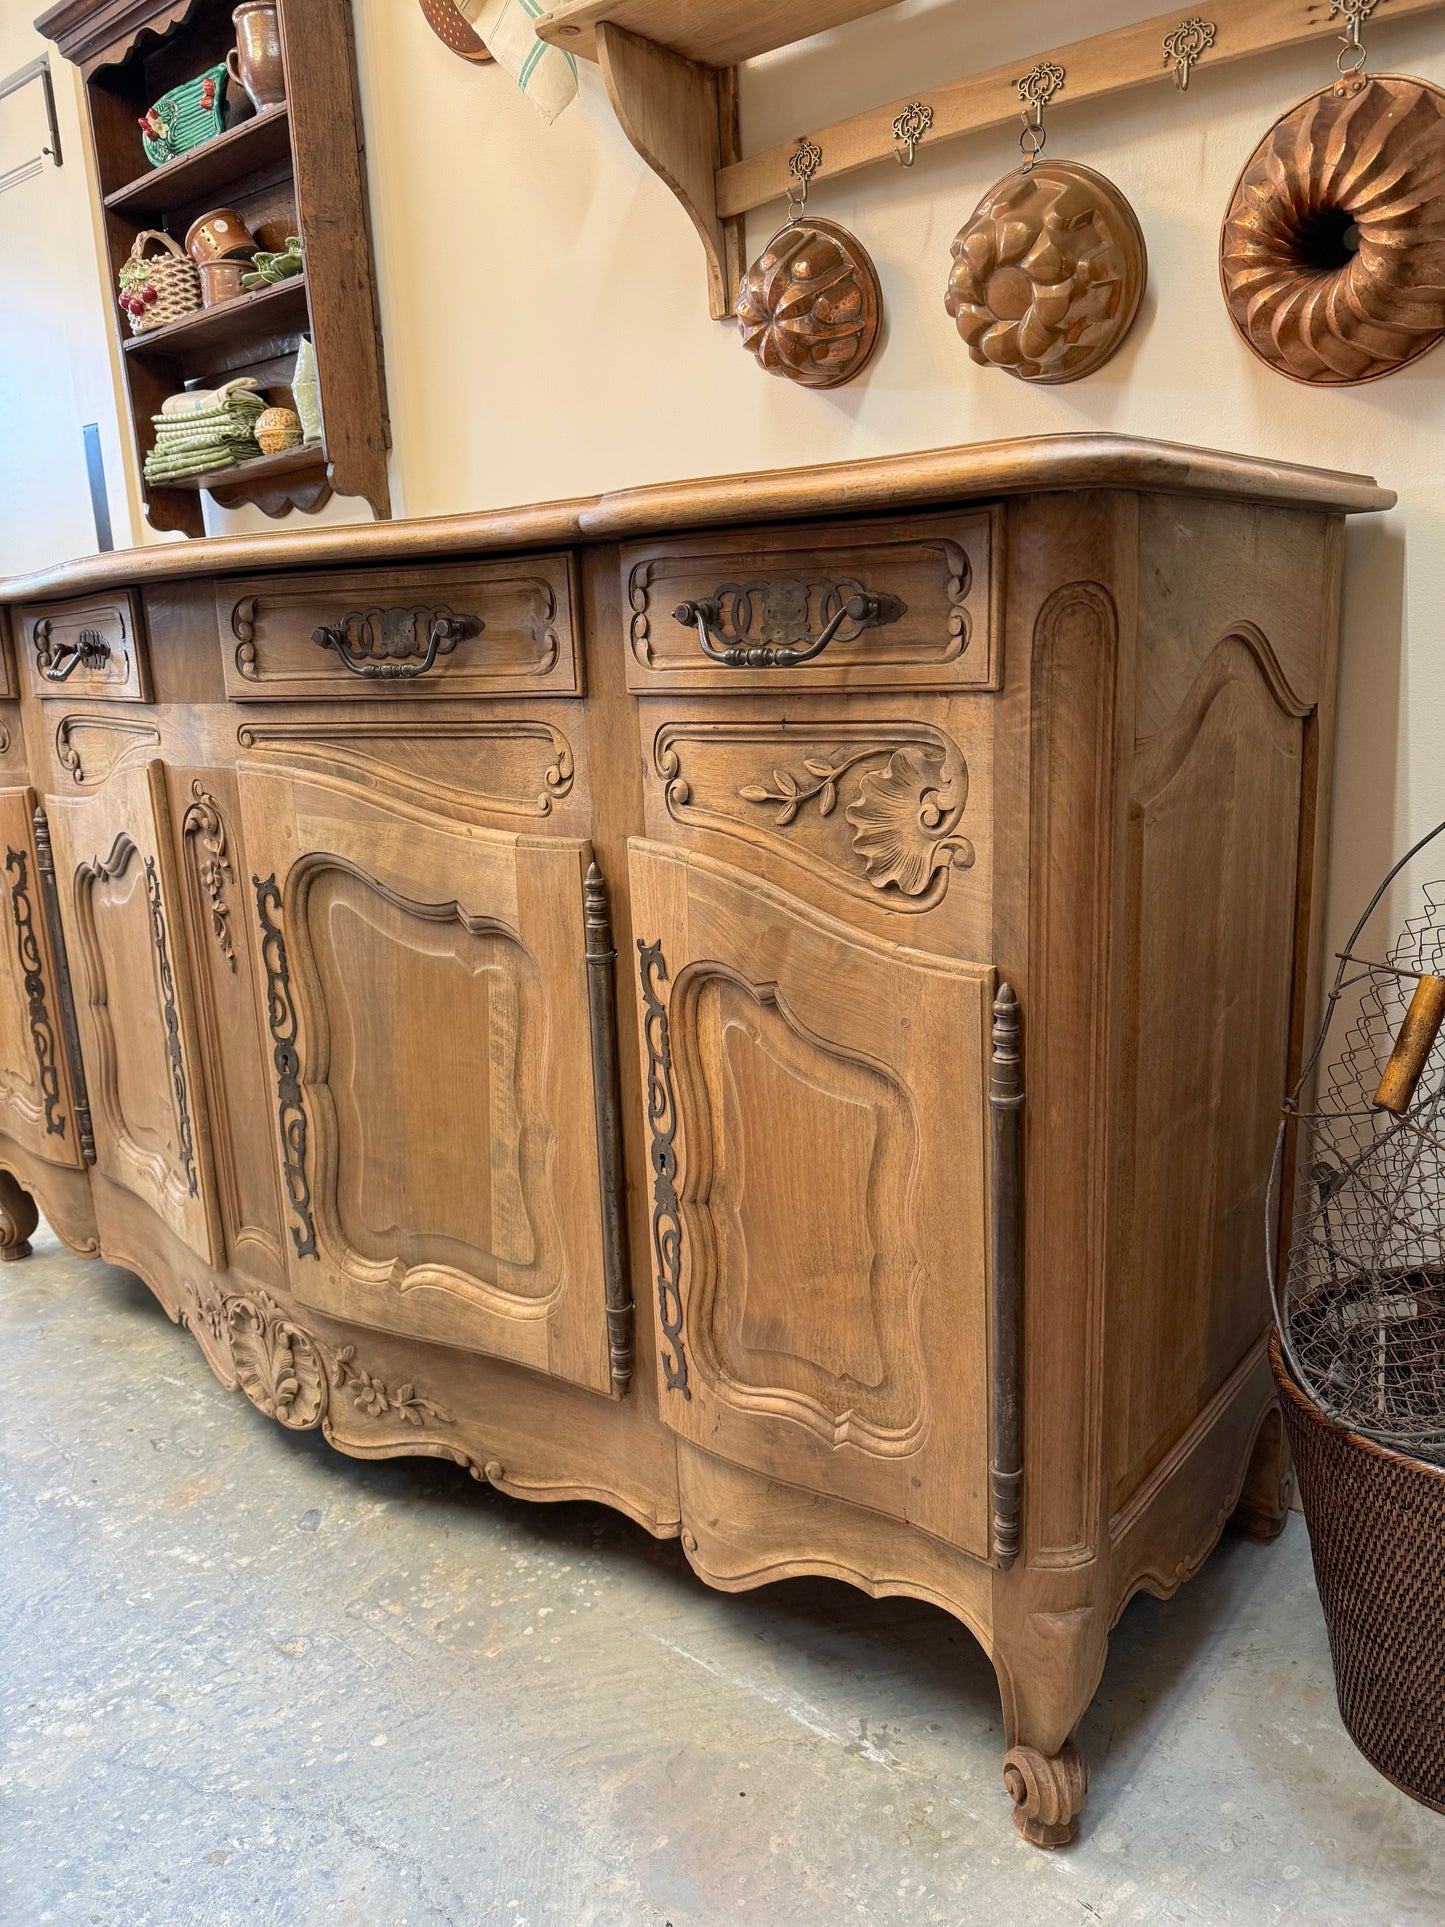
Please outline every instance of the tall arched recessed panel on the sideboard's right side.
[[1264, 1179], [1287, 1083], [1306, 726], [1268, 640], [1237, 624], [1135, 753], [1116, 1511], [1268, 1324]]

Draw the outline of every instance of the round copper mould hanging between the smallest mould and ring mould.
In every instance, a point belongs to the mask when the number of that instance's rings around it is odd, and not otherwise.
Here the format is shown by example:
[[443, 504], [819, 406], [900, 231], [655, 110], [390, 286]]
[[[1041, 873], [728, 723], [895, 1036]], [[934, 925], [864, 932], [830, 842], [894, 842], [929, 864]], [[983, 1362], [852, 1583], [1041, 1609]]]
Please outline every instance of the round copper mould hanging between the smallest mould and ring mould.
[[983, 368], [1077, 382], [1121, 347], [1146, 279], [1144, 235], [1119, 189], [1079, 162], [1040, 162], [973, 210], [944, 306]]

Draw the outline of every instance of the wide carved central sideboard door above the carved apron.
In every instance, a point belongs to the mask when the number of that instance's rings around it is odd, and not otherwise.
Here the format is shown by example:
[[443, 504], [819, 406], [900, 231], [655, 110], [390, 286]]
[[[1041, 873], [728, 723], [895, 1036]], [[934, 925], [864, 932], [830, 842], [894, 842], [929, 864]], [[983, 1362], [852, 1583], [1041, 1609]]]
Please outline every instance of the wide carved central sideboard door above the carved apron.
[[293, 1291], [613, 1389], [590, 844], [239, 775]]

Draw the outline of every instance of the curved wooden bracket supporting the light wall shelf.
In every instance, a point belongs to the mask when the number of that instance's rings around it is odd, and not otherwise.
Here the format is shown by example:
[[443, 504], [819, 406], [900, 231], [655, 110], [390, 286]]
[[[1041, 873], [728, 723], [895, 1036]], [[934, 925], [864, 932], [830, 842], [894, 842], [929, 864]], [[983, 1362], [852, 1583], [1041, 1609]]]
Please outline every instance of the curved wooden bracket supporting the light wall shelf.
[[717, 172], [738, 160], [738, 69], [699, 67], [624, 27], [597, 21], [597, 62], [622, 133], [665, 181], [707, 256], [707, 310], [732, 314], [742, 220], [717, 212]]

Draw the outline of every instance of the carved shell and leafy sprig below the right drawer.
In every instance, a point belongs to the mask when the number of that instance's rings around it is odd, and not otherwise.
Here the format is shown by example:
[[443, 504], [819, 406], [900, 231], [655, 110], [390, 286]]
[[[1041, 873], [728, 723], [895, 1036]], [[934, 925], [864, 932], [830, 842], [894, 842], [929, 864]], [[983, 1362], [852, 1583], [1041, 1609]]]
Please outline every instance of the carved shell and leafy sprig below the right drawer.
[[946, 755], [936, 744], [917, 744], [888, 753], [886, 746], [834, 750], [828, 757], [803, 757], [813, 780], [786, 769], [773, 771], [773, 782], [744, 782], [738, 796], [749, 804], [778, 804], [773, 819], [786, 829], [805, 804], [817, 802], [819, 815], [838, 807], [838, 784], [857, 765], [888, 757], [886, 769], [871, 769], [857, 780], [844, 817], [854, 831], [854, 852], [877, 890], [894, 886], [904, 896], [923, 896], [940, 869], [967, 869], [973, 844], [954, 834], [969, 796], [963, 761], [946, 773]]

